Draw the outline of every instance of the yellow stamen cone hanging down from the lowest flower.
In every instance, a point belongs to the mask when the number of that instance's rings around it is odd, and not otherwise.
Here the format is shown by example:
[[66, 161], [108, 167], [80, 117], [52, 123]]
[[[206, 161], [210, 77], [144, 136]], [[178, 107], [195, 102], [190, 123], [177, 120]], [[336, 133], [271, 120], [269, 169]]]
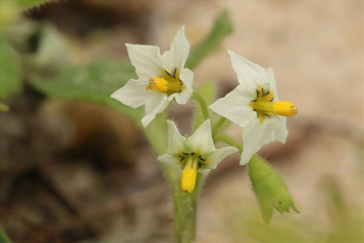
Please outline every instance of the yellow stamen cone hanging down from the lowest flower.
[[182, 195], [185, 193], [193, 192], [196, 183], [196, 176], [197, 176], [197, 162], [198, 159], [195, 157], [188, 157], [187, 162], [185, 165], [185, 169], [182, 171], [182, 179], [181, 179], [181, 189]]

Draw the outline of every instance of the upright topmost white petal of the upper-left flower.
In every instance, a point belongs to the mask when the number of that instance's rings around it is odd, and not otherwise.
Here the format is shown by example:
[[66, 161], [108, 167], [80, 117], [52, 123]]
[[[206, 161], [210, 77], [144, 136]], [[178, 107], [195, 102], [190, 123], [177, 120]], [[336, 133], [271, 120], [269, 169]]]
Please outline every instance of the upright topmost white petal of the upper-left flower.
[[189, 52], [190, 44], [185, 36], [185, 26], [182, 26], [171, 42], [171, 50], [163, 53], [163, 67], [170, 73], [175, 67], [182, 69]]

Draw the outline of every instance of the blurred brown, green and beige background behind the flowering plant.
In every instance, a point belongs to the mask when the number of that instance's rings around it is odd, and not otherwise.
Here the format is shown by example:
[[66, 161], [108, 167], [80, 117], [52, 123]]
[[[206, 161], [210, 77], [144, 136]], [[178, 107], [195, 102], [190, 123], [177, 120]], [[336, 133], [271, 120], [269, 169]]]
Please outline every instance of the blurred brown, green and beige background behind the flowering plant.
[[[13, 242], [173, 240], [171, 190], [133, 119], [143, 109], [107, 97], [136, 77], [124, 43], [163, 53], [185, 25], [193, 50], [223, 10], [234, 31], [195, 85], [215, 83], [217, 98], [236, 87], [226, 48], [274, 68], [299, 111], [286, 144], [259, 154], [301, 213], [276, 211], [266, 226], [233, 154], [203, 185], [196, 242], [364, 241], [363, 1], [51, 1], [14, 20], [12, 2], [1, 1], [1, 75], [14, 81], [1, 82], [0, 223]], [[170, 107], [182, 132], [194, 105]], [[226, 133], [241, 141], [236, 125]]]

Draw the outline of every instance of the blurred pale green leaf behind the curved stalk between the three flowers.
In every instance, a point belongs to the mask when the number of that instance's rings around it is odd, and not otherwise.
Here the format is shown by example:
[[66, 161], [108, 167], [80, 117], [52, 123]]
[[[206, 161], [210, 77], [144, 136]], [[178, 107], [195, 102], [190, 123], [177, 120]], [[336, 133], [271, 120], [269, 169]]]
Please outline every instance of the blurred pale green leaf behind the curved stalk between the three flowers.
[[[206, 105], [209, 106], [216, 98], [216, 87], [213, 82], [206, 82], [200, 88], [201, 95], [205, 98]], [[197, 105], [194, 111], [193, 130], [195, 131], [204, 121], [201, 107]]]

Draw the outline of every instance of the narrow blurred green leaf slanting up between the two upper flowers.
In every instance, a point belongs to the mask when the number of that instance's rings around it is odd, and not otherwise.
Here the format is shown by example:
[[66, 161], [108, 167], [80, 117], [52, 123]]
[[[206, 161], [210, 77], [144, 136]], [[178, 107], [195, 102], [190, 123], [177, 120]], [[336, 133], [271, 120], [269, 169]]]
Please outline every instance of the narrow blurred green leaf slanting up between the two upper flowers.
[[229, 13], [223, 10], [215, 19], [210, 33], [205, 39], [195, 47], [185, 64], [185, 67], [193, 70], [203, 58], [213, 51], [227, 35], [233, 32], [233, 23], [229, 18]]

